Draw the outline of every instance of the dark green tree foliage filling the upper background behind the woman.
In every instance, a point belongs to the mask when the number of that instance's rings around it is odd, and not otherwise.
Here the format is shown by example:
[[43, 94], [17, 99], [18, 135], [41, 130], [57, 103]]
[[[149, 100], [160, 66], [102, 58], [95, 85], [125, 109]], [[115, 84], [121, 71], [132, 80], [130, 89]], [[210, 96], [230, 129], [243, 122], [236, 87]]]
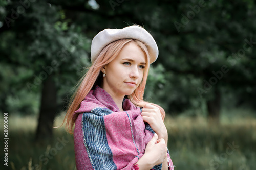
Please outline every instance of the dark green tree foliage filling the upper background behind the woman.
[[[146, 100], [160, 104], [166, 113], [178, 114], [202, 107], [215, 98], [217, 89], [222, 96], [232, 93], [231, 100], [238, 102], [234, 105], [255, 107], [254, 1], [113, 2], [31, 2], [7, 27], [6, 17], [13, 18], [13, 10], [21, 4], [1, 1], [1, 63], [24, 72], [16, 72], [15, 83], [2, 76], [4, 86], [12, 93], [27, 88], [38, 98], [44, 74], [53, 75], [62, 105], [83, 67], [90, 65], [91, 39], [105, 28], [136, 23], [150, 31], [159, 47]], [[223, 66], [227, 72], [219, 79], [214, 72]], [[217, 82], [210, 83], [213, 79]], [[1, 90], [7, 91], [6, 87]], [[0, 97], [1, 108], [9, 105], [6, 93]]]

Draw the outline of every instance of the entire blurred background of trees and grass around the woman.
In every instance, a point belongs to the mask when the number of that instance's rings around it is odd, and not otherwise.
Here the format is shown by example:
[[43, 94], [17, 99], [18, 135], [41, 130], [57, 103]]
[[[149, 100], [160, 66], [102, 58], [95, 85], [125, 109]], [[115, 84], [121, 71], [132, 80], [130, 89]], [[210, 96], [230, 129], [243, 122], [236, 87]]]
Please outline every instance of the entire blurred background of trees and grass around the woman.
[[0, 0], [0, 122], [4, 129], [8, 113], [9, 138], [1, 169], [76, 169], [73, 136], [53, 126], [91, 64], [92, 38], [133, 24], [159, 47], [144, 97], [166, 111], [175, 169], [256, 169], [255, 3]]

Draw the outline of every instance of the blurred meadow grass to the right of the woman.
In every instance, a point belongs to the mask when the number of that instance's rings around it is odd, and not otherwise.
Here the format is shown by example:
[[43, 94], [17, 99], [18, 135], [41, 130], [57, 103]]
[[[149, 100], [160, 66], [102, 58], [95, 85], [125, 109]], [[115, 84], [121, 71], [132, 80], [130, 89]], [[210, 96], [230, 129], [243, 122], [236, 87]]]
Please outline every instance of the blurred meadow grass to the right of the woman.
[[223, 113], [216, 126], [209, 126], [204, 117], [167, 118], [168, 148], [176, 169], [255, 169], [256, 118], [243, 112]]

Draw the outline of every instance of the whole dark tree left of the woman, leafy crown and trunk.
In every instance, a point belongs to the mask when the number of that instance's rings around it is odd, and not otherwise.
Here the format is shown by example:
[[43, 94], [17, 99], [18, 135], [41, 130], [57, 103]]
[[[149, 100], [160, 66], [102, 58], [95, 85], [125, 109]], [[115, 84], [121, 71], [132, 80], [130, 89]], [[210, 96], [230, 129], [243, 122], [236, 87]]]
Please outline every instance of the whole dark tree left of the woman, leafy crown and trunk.
[[[10, 11], [6, 18], [12, 16], [16, 6], [20, 6], [19, 2], [6, 7], [6, 11]], [[44, 1], [29, 6], [26, 13], [12, 21], [9, 27], [6, 23], [0, 32], [3, 37], [12, 34], [18, 44], [17, 47], [11, 44], [2, 46], [3, 62], [25, 67], [28, 71], [27, 76], [18, 82], [19, 87], [12, 84], [12, 88], [17, 90], [25, 86], [30, 93], [39, 92], [41, 95], [36, 133], [36, 139], [40, 141], [51, 138], [54, 117], [61, 111], [58, 110], [58, 91], [73, 85], [79, 77], [77, 71], [88, 65], [89, 42], [79, 27], [69, 25], [70, 21], [61, 8]]]

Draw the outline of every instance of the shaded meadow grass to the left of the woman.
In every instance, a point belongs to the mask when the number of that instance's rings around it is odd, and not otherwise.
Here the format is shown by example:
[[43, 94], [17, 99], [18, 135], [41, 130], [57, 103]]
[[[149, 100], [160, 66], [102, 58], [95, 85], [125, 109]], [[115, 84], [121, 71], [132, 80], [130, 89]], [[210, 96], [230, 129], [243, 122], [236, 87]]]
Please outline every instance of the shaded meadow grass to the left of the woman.
[[36, 117], [10, 116], [8, 123], [8, 167], [0, 169], [75, 169], [73, 136], [63, 127], [54, 129], [51, 142], [36, 144]]

